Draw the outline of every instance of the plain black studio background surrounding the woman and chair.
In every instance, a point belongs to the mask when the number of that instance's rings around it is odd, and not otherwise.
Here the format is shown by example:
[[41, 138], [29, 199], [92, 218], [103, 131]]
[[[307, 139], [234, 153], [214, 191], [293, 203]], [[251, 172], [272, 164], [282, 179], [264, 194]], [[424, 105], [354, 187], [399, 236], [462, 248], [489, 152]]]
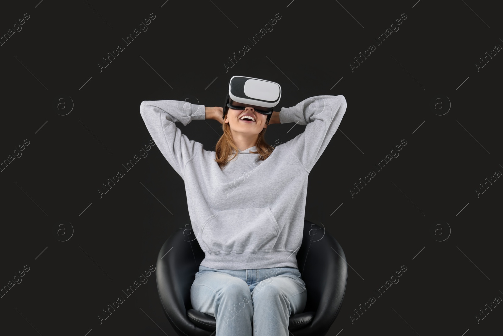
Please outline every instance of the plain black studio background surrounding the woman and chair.
[[[153, 147], [101, 198], [98, 189], [149, 144], [143, 100], [221, 106], [234, 75], [280, 83], [278, 107], [316, 95], [347, 100], [309, 176], [305, 209], [307, 220], [340, 242], [351, 266], [329, 335], [500, 329], [499, 305], [478, 324], [475, 317], [503, 297], [503, 182], [478, 197], [475, 191], [503, 171], [503, 56], [478, 72], [475, 65], [503, 45], [495, 3], [164, 1], [2, 5], [2, 36], [30, 15], [0, 46], [1, 162], [30, 142], [0, 172], [0, 287], [30, 267], [0, 298], [2, 333], [175, 334], [155, 272], [102, 324], [98, 315], [190, 222], [183, 180]], [[150, 13], [148, 30], [126, 45], [122, 39]], [[248, 38], [277, 13], [274, 30], [251, 45]], [[374, 38], [402, 13], [399, 30], [378, 45]], [[118, 44], [125, 49], [100, 72]], [[226, 72], [224, 63], [244, 44], [250, 50]], [[352, 72], [370, 44], [376, 50]], [[215, 120], [178, 126], [208, 150], [222, 134]], [[268, 143], [305, 127], [292, 126], [272, 125]], [[403, 139], [399, 157], [378, 172], [374, 164]], [[352, 197], [370, 170], [377, 175]], [[402, 265], [399, 283], [377, 298], [374, 290]], [[352, 323], [371, 296], [377, 301]]]

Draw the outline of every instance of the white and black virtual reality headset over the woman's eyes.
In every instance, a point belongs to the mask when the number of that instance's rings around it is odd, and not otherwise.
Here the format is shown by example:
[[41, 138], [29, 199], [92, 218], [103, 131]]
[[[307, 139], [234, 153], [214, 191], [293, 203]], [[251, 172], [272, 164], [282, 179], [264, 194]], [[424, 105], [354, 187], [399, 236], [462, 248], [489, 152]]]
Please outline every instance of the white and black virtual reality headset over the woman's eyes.
[[229, 108], [244, 110], [250, 106], [256, 112], [266, 114], [269, 123], [273, 109], [281, 98], [281, 86], [278, 83], [259, 78], [232, 76], [227, 84], [227, 90], [222, 119], [225, 119]]

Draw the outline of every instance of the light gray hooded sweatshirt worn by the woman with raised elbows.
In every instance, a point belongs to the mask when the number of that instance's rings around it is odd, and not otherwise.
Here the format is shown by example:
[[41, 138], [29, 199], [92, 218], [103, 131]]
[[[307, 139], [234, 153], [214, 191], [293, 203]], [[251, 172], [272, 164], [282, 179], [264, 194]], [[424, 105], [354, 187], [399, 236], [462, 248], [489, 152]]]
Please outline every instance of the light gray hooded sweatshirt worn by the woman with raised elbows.
[[[162, 155], [185, 182], [201, 265], [220, 270], [296, 267], [302, 243], [307, 176], [346, 112], [344, 96], [315, 96], [283, 107], [281, 123], [306, 125], [264, 161], [257, 148], [239, 151], [220, 169], [215, 152], [189, 140], [176, 122], [204, 120], [205, 106], [143, 101], [140, 113]], [[292, 124], [292, 127], [294, 124]], [[274, 131], [274, 129], [273, 129]], [[231, 156], [232, 157], [232, 156]]]

